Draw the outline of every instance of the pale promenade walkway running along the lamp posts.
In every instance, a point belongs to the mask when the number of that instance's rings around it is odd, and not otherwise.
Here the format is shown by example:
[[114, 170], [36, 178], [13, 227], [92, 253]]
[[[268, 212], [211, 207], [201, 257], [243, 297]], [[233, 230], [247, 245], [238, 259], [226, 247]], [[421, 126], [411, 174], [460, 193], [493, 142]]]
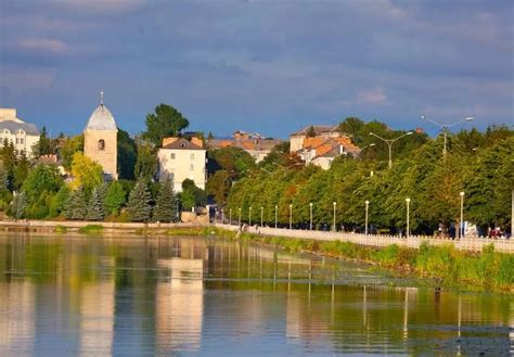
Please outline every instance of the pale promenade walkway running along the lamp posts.
[[[239, 227], [236, 225], [215, 224], [216, 227], [236, 231]], [[329, 231], [317, 231], [317, 230], [299, 230], [299, 229], [283, 229], [283, 228], [271, 228], [271, 227], [248, 227], [248, 233], [271, 235], [271, 237], [284, 237], [284, 238], [297, 238], [297, 239], [311, 239], [319, 241], [342, 241], [351, 242], [361, 245], [369, 246], [386, 246], [389, 244], [398, 244], [400, 246], [407, 246], [412, 248], [419, 248], [420, 244], [424, 241], [433, 245], [453, 244], [455, 248], [461, 251], [480, 252], [483, 246], [486, 244], [493, 243], [494, 251], [504, 253], [514, 253], [514, 242], [512, 239], [485, 239], [485, 238], [463, 238], [461, 240], [448, 240], [448, 239], [435, 239], [434, 237], [417, 237], [411, 235], [409, 238], [398, 235], [375, 235], [375, 234], [357, 234], [348, 232], [329, 232]]]

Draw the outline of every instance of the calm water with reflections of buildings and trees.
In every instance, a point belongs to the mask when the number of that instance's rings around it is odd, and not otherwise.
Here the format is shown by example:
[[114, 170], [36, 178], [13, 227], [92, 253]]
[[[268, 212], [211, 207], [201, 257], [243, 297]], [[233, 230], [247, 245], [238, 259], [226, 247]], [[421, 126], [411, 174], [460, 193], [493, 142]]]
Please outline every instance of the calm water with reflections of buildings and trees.
[[514, 298], [205, 238], [0, 237], [0, 356], [513, 353]]

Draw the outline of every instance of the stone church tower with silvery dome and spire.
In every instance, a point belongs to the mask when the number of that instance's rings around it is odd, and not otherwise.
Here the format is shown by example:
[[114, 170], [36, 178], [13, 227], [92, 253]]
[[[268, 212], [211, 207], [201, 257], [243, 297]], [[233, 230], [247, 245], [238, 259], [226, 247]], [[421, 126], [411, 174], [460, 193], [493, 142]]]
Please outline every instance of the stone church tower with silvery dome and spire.
[[103, 91], [100, 92], [100, 105], [89, 118], [83, 129], [83, 154], [103, 167], [106, 180], [117, 180], [118, 129], [113, 114], [103, 104]]

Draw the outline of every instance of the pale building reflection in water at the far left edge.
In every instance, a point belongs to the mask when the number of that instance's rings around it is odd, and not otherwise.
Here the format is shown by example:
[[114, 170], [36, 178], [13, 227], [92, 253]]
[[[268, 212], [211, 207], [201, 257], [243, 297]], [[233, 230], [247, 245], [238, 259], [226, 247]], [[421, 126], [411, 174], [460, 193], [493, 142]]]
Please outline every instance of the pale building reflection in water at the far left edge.
[[27, 281], [0, 284], [0, 355], [31, 355], [35, 286]]

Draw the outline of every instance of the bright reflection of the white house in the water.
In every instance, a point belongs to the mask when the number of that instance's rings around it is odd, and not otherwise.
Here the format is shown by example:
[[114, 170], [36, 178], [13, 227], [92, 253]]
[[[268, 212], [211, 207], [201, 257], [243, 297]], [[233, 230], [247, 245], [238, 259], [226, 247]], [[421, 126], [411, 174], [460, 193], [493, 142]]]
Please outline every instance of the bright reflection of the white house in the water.
[[169, 276], [156, 288], [158, 353], [196, 350], [202, 337], [204, 309], [203, 259], [159, 259]]

